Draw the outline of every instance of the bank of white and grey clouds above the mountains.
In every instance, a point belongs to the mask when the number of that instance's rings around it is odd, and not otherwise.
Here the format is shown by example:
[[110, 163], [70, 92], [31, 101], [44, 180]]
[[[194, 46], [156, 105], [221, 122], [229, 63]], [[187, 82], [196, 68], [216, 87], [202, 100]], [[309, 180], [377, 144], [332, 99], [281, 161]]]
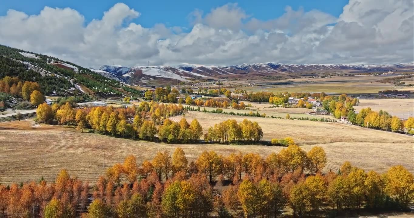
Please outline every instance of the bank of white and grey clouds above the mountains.
[[339, 17], [287, 6], [282, 16], [270, 20], [226, 4], [207, 14], [194, 10], [189, 31], [164, 24], [144, 28], [131, 21], [140, 15], [123, 3], [89, 23], [70, 8], [45, 7], [34, 15], [10, 9], [0, 17], [0, 43], [87, 67], [148, 61], [154, 65], [414, 62], [411, 0], [350, 0]]

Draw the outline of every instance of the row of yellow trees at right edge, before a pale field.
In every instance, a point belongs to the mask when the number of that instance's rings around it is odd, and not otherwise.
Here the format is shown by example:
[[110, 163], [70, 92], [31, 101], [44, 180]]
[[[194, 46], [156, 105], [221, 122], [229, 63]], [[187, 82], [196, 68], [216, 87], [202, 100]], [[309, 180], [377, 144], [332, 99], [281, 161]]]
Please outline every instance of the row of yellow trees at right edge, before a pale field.
[[391, 116], [387, 111], [372, 111], [370, 107], [363, 108], [359, 114], [349, 111], [348, 120], [352, 124], [366, 128], [380, 129], [392, 132], [406, 131], [414, 134], [414, 117], [402, 121], [397, 116]]

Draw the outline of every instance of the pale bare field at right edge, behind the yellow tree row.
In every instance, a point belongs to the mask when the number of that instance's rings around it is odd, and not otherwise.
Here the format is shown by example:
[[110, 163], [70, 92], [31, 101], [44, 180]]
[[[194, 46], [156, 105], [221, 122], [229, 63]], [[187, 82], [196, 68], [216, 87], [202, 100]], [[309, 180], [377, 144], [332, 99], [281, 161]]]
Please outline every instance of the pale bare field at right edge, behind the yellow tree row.
[[354, 106], [356, 111], [371, 107], [374, 111], [384, 110], [392, 116], [408, 118], [414, 116], [414, 99], [360, 99], [359, 105]]

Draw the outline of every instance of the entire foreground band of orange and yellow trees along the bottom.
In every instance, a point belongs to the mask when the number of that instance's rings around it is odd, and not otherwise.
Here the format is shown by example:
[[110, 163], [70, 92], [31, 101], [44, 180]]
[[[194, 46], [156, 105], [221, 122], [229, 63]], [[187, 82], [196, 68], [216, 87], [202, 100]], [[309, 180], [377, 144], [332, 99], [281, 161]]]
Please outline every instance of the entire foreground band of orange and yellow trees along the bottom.
[[[222, 156], [202, 152], [189, 162], [177, 148], [137, 163], [128, 156], [96, 184], [60, 171], [55, 181], [0, 185], [3, 217], [278, 217], [289, 207], [294, 217], [340, 216], [362, 209], [408, 209], [414, 177], [403, 166], [366, 173], [344, 162], [337, 173], [321, 173], [324, 150], [289, 145], [266, 158], [254, 153]], [[89, 201], [91, 197], [92, 201]]]

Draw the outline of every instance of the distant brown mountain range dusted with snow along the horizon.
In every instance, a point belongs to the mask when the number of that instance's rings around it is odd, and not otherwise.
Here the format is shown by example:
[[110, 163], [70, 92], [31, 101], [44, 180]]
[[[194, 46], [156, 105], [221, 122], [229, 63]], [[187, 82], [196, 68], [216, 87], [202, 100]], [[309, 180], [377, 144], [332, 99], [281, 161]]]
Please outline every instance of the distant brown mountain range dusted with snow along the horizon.
[[135, 66], [103, 65], [89, 68], [108, 78], [131, 85], [162, 81], [189, 81], [193, 79], [231, 78], [295, 78], [318, 72], [370, 72], [390, 70], [413, 70], [414, 63], [381, 65], [357, 64], [280, 64], [275, 62], [240, 64], [233, 66], [205, 66], [198, 64], [177, 64], [174, 66]]

